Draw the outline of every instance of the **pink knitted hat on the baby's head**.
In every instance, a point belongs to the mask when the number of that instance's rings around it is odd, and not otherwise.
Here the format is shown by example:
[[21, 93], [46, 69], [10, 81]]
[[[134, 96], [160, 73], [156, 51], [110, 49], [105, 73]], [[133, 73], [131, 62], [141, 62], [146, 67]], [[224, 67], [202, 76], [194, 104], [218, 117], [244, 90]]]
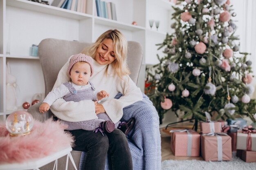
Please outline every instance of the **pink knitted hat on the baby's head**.
[[[85, 55], [85, 54], [82, 54], [82, 53], [79, 53], [79, 54], [73, 55], [71, 57], [70, 65], [67, 68], [67, 74], [68, 75], [70, 74], [70, 70], [71, 70], [72, 66], [74, 66], [74, 64], [76, 64], [77, 62], [87, 62], [91, 66], [91, 71], [92, 71], [92, 74], [93, 74], [94, 69], [93, 69], [93, 66], [92, 66], [92, 63], [93, 63], [92, 57], [90, 57], [88, 55]], [[91, 76], [92, 76], [92, 74], [91, 74]]]

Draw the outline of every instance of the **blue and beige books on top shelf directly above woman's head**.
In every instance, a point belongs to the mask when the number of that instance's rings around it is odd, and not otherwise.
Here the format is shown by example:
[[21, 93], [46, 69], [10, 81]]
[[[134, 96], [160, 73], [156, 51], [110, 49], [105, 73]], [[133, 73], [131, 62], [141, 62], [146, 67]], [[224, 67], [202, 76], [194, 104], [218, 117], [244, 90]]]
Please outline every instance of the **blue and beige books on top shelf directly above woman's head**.
[[117, 20], [116, 7], [113, 2], [95, 0], [97, 16]]

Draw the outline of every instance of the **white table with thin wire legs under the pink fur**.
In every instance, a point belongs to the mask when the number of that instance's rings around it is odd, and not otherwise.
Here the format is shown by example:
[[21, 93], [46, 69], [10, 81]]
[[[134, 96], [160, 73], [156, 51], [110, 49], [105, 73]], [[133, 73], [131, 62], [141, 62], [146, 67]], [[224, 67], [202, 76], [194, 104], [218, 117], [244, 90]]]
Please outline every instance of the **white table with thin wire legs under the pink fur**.
[[31, 159], [29, 161], [25, 161], [23, 163], [7, 163], [7, 164], [1, 164], [0, 170], [40, 170], [39, 168], [55, 161], [54, 168], [57, 170], [58, 165], [58, 159], [67, 155], [67, 161], [66, 161], [66, 170], [68, 165], [68, 159], [72, 162], [75, 170], [77, 170], [76, 165], [74, 163], [74, 160], [72, 158], [71, 152], [72, 148], [71, 146], [67, 146], [58, 152], [53, 153], [52, 155], [49, 155], [47, 157], [39, 158], [39, 159]]

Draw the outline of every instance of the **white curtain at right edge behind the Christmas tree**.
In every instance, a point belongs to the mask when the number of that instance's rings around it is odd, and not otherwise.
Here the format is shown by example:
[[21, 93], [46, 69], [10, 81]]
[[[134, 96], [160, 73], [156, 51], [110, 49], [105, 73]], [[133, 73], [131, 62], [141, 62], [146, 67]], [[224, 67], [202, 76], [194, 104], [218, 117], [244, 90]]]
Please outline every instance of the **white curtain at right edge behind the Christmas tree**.
[[[256, 75], [256, 0], [231, 0], [234, 5], [234, 12], [237, 14], [236, 35], [240, 37], [240, 52], [248, 52], [251, 55], [247, 58], [252, 61], [253, 75]], [[252, 98], [256, 98], [256, 76], [252, 85], [255, 87]]]

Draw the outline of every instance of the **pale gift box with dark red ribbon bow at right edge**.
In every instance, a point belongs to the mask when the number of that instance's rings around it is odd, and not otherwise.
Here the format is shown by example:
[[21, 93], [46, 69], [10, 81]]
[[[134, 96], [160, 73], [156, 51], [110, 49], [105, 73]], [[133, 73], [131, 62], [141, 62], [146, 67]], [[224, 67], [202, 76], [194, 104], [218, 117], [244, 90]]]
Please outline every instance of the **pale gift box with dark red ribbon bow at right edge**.
[[243, 128], [237, 131], [236, 149], [256, 151], [256, 130]]

